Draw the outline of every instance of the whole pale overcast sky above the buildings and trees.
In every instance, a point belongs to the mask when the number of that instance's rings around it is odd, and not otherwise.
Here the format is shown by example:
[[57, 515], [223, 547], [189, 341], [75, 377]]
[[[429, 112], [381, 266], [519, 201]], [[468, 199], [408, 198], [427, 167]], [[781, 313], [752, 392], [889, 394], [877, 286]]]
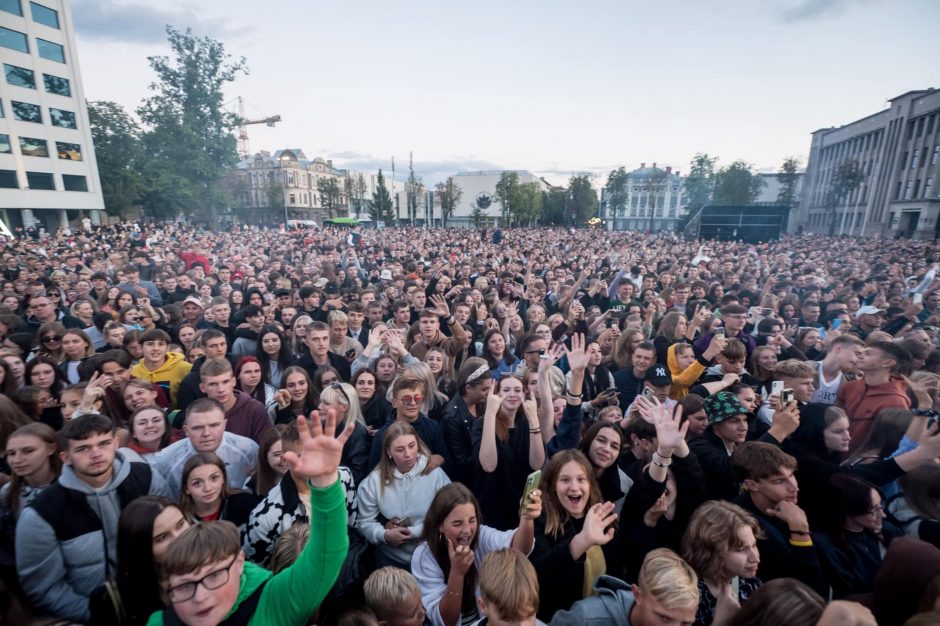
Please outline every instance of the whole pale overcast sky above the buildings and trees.
[[[940, 87], [937, 0], [72, 0], [85, 92], [135, 108], [164, 25], [244, 56], [253, 151], [294, 147], [426, 183], [562, 183], [696, 152], [763, 171], [810, 133]], [[399, 175], [400, 178], [400, 175]]]

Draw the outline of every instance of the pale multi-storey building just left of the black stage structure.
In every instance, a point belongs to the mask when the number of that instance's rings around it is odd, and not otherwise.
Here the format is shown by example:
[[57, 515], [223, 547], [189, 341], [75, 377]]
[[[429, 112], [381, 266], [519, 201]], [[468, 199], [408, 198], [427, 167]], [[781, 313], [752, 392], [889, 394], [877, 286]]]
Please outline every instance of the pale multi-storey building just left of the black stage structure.
[[615, 207], [606, 187], [601, 188], [598, 216], [609, 230], [675, 230], [685, 215], [687, 201], [680, 172], [653, 163], [627, 174], [623, 206]]

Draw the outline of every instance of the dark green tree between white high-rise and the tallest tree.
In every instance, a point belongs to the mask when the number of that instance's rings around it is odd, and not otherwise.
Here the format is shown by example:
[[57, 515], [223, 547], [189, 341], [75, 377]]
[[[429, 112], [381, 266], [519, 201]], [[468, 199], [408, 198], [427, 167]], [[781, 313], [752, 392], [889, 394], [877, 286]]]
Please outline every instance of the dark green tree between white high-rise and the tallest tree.
[[144, 190], [140, 126], [121, 105], [108, 101], [89, 102], [88, 121], [105, 211], [127, 214]]

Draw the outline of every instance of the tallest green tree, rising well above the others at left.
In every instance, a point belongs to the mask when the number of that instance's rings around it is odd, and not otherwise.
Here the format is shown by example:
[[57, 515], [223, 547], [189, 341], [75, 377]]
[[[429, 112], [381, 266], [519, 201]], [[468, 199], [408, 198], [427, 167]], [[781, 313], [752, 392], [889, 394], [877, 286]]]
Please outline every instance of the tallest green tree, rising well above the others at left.
[[137, 109], [147, 128], [143, 203], [155, 217], [181, 212], [208, 219], [228, 204], [224, 181], [238, 162], [232, 129], [238, 120], [223, 107], [223, 90], [247, 73], [221, 42], [167, 26], [171, 56], [148, 57], [156, 81]]

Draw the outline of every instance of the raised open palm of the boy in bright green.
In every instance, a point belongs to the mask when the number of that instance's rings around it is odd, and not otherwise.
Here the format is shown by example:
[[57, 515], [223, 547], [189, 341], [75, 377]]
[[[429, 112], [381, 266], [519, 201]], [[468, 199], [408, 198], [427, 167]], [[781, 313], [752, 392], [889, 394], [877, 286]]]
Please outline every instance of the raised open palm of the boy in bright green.
[[352, 434], [355, 424], [350, 423], [339, 437], [334, 437], [336, 411], [327, 410], [325, 426], [320, 425], [320, 419], [318, 411], [310, 414], [309, 421], [302, 415], [297, 418], [300, 455], [285, 452], [284, 459], [290, 463], [292, 476], [309, 480], [314, 487], [328, 487], [338, 478], [337, 469], [343, 456], [343, 445]]

